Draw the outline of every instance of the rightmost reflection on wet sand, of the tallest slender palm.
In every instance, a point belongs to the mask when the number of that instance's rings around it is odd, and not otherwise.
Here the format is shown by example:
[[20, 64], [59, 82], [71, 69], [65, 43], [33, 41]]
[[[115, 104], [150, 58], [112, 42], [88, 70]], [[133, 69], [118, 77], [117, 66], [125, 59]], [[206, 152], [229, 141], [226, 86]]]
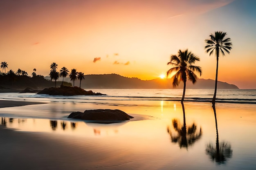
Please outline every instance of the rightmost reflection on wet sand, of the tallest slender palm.
[[207, 144], [206, 154], [211, 157], [213, 161], [217, 163], [225, 163], [227, 158], [232, 157], [231, 145], [229, 142], [221, 141], [219, 142], [219, 133], [218, 133], [218, 124], [217, 124], [217, 116], [216, 116], [216, 108], [215, 104], [213, 104], [213, 112], [215, 117], [215, 125], [216, 125], [216, 147], [213, 146], [212, 143]]

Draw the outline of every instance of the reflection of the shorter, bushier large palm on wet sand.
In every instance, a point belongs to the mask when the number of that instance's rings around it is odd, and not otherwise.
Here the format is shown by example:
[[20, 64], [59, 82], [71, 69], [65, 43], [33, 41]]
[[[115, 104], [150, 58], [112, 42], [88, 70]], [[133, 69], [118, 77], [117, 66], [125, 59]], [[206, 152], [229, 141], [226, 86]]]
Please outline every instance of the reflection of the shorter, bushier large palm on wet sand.
[[173, 128], [177, 134], [173, 134], [169, 127], [167, 128], [167, 132], [170, 134], [172, 142], [178, 142], [180, 148], [188, 148], [188, 146], [191, 146], [195, 141], [198, 141], [201, 138], [202, 130], [200, 128], [199, 132], [197, 132], [197, 126], [194, 123], [186, 128], [185, 108], [183, 102], [181, 104], [183, 110], [183, 125], [181, 126], [177, 119], [173, 119]]

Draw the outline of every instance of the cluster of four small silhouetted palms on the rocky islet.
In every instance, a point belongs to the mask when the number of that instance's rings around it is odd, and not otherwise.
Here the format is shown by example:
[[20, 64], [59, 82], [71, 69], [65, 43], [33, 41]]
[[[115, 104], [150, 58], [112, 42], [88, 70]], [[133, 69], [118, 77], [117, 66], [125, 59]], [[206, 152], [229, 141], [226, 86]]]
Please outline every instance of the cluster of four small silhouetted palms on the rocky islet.
[[62, 83], [61, 86], [63, 86], [63, 82], [64, 82], [64, 78], [67, 77], [69, 75], [70, 80], [73, 81], [73, 86], [75, 86], [75, 80], [79, 79], [80, 80], [80, 88], [81, 88], [81, 81], [84, 78], [84, 73], [82, 72], [77, 72], [75, 68], [73, 68], [71, 70], [71, 72], [66, 68], [66, 67], [62, 67], [60, 72], [56, 71], [56, 69], [58, 68], [58, 64], [56, 64], [55, 62], [53, 62], [50, 66], [51, 71], [50, 71], [50, 78], [51, 80], [55, 80], [55, 87], [56, 87], [56, 80], [60, 77], [63, 77], [62, 79]]

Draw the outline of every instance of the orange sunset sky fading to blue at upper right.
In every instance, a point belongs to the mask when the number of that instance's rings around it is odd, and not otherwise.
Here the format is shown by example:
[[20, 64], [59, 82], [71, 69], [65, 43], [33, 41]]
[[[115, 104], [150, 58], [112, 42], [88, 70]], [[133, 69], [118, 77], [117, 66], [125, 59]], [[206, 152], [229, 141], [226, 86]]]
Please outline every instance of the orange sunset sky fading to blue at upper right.
[[29, 75], [49, 75], [56, 62], [85, 75], [150, 80], [189, 49], [200, 57], [199, 78], [215, 79], [204, 40], [223, 31], [233, 46], [220, 56], [218, 80], [256, 89], [255, 8], [255, 0], [1, 0], [0, 62]]

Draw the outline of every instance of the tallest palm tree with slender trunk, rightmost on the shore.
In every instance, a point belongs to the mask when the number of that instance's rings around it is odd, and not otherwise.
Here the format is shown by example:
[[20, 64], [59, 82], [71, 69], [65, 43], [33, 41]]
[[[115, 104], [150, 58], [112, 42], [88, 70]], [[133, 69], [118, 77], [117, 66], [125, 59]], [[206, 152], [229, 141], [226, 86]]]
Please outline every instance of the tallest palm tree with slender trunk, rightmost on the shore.
[[215, 35], [211, 34], [209, 35], [211, 37], [211, 40], [205, 40], [207, 43], [207, 46], [204, 47], [206, 49], [206, 53], [210, 52], [210, 56], [212, 55], [213, 51], [215, 51], [215, 55], [217, 58], [217, 66], [216, 66], [216, 78], [215, 78], [215, 90], [214, 90], [214, 95], [213, 95], [213, 100], [212, 104], [215, 104], [215, 99], [216, 99], [216, 93], [217, 93], [217, 82], [218, 82], [218, 64], [219, 64], [219, 56], [220, 52], [222, 53], [223, 56], [225, 56], [225, 52], [228, 54], [230, 53], [229, 51], [232, 49], [231, 45], [232, 43], [230, 42], [231, 39], [225, 37], [227, 33], [222, 32], [222, 31], [216, 31]]

